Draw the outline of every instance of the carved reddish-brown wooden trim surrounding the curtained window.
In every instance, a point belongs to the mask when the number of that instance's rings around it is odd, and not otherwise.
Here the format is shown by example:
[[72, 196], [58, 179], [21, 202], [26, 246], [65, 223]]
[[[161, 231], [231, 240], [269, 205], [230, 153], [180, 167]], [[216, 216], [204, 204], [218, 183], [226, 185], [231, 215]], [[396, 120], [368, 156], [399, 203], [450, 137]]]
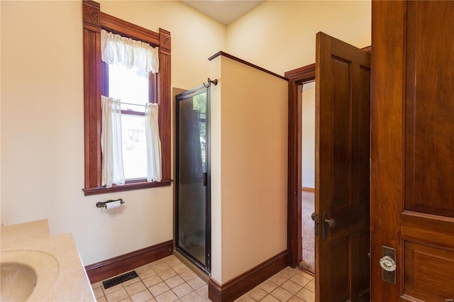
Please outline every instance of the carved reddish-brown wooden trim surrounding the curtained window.
[[[171, 179], [171, 96], [170, 96], [170, 32], [162, 28], [155, 33], [133, 23], [123, 21], [101, 12], [99, 3], [92, 0], [82, 2], [84, 23], [84, 160], [85, 195], [116, 191], [169, 186]], [[103, 88], [101, 64], [101, 28], [128, 38], [142, 40], [159, 47], [159, 72], [150, 76], [155, 89], [150, 93], [159, 104], [159, 131], [162, 153], [162, 181], [148, 182], [131, 179], [123, 186], [114, 185], [107, 189], [101, 186], [101, 91]]]

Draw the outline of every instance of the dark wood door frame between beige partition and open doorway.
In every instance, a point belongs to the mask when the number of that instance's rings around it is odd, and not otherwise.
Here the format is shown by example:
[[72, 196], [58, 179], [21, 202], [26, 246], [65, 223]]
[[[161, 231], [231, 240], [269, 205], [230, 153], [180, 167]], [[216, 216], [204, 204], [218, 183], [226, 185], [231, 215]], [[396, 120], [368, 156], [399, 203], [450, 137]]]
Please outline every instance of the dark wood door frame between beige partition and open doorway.
[[287, 250], [289, 266], [297, 267], [302, 259], [301, 240], [301, 84], [315, 80], [315, 64], [290, 70], [289, 79], [289, 150], [287, 194]]

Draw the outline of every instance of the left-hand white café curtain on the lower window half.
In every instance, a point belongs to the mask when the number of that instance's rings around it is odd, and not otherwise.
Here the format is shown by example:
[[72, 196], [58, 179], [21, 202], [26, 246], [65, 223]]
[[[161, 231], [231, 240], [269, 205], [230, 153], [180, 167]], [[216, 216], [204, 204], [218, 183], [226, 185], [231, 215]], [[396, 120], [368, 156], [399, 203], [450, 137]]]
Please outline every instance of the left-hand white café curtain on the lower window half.
[[101, 111], [101, 186], [110, 188], [112, 184], [125, 184], [120, 100], [101, 96]]

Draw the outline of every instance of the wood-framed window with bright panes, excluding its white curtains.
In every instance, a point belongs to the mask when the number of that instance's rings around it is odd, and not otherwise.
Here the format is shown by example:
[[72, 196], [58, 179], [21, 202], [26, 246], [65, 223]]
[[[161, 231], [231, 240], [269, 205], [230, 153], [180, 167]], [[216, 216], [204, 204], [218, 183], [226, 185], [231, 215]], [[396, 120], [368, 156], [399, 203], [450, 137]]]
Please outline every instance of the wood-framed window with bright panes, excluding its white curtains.
[[[84, 194], [170, 185], [170, 33], [155, 33], [102, 13], [99, 3], [83, 1], [84, 20]], [[101, 29], [159, 49], [159, 71], [143, 74], [134, 68], [101, 62]], [[101, 95], [121, 99], [123, 167], [126, 183], [101, 186]], [[146, 180], [145, 107], [159, 106], [162, 180]], [[140, 104], [142, 106], [135, 106]]]

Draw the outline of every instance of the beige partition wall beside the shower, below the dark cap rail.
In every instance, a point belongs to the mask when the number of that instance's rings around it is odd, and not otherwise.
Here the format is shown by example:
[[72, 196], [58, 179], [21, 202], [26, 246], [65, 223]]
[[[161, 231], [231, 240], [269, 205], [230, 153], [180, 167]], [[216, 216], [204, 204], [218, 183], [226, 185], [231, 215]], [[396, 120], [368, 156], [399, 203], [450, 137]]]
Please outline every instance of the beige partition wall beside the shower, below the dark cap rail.
[[227, 57], [213, 64], [211, 203], [221, 223], [211, 232], [221, 245], [212, 261], [221, 272], [212, 277], [223, 284], [287, 249], [288, 85]]

